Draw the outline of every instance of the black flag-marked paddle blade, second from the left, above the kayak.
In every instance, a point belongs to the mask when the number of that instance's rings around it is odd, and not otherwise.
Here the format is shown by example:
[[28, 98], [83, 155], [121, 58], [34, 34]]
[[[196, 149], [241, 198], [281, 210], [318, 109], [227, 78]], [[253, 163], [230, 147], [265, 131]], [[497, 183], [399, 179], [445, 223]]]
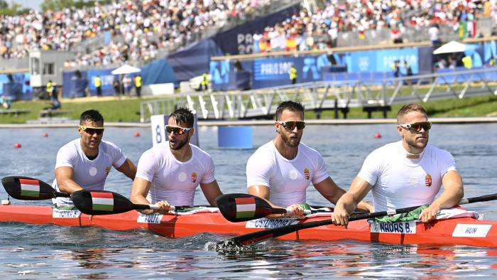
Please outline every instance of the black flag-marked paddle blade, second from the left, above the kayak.
[[76, 208], [87, 215], [110, 215], [135, 209], [128, 198], [108, 190], [77, 190], [71, 199]]

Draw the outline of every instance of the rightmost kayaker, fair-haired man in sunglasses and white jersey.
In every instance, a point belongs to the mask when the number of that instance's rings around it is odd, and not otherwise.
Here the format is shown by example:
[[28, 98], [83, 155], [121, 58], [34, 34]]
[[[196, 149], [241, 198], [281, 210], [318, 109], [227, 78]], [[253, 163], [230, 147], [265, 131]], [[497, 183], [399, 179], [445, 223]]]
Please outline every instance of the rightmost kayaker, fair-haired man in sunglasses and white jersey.
[[[372, 190], [375, 211], [427, 205], [419, 220], [431, 222], [440, 209], [452, 208], [464, 195], [462, 179], [448, 151], [428, 144], [432, 123], [420, 104], [405, 104], [397, 114], [402, 140], [373, 151], [334, 209], [334, 225], [349, 223], [356, 203]], [[435, 199], [441, 186], [444, 191]]]

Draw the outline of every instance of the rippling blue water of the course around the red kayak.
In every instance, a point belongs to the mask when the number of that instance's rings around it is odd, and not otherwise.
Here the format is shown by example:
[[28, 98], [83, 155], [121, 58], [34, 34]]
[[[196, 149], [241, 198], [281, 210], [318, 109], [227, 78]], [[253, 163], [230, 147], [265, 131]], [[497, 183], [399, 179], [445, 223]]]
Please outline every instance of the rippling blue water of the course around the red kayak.
[[[217, 149], [217, 127], [198, 130], [201, 148], [214, 158], [222, 191], [246, 192], [245, 164], [253, 150]], [[252, 131], [254, 147], [275, 136], [274, 126], [253, 126]], [[136, 132], [141, 135], [135, 137]], [[382, 137], [375, 139], [376, 133]], [[51, 183], [58, 149], [77, 136], [76, 127], [0, 129], [0, 177], [30, 176]], [[104, 139], [118, 144], [134, 163], [152, 144], [151, 129], [143, 127], [109, 127]], [[349, 188], [367, 154], [398, 139], [393, 124], [310, 125], [302, 142], [320, 151], [334, 181]], [[435, 124], [430, 131], [430, 144], [454, 155], [466, 197], [497, 193], [496, 139], [497, 124]], [[14, 149], [15, 143], [21, 149]], [[106, 188], [129, 197], [131, 185], [129, 178], [113, 169]], [[6, 197], [1, 188], [0, 198]], [[366, 200], [371, 201], [371, 195]], [[308, 202], [327, 205], [312, 187]], [[12, 203], [49, 205], [50, 201]], [[200, 190], [195, 204], [207, 204]], [[486, 220], [497, 220], [496, 202], [465, 206], [484, 214]], [[205, 232], [168, 239], [150, 232], [0, 222], [0, 275], [9, 279], [469, 279], [497, 274], [497, 249], [279, 240], [237, 254], [210, 249], [209, 244], [225, 238]]]

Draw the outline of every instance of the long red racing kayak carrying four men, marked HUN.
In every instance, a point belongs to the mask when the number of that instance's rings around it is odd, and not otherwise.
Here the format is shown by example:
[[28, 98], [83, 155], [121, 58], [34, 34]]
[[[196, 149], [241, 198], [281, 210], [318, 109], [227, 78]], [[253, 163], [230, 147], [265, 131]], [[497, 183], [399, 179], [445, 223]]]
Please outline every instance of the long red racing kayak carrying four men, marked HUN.
[[[469, 214], [468, 214], [469, 213]], [[347, 229], [323, 225], [291, 232], [278, 239], [337, 241], [353, 239], [361, 242], [391, 244], [456, 244], [474, 247], [497, 247], [497, 221], [478, 220], [475, 212], [449, 215], [447, 218], [422, 222], [351, 221]], [[102, 227], [109, 230], [155, 232], [170, 238], [187, 237], [201, 232], [220, 235], [244, 235], [271, 227], [328, 220], [329, 213], [317, 213], [302, 220], [266, 218], [245, 222], [229, 222], [217, 208], [194, 208], [168, 215], [143, 215], [135, 210], [111, 215], [87, 215], [79, 210], [60, 210], [48, 205], [0, 205], [1, 222], [26, 222], [72, 227]]]

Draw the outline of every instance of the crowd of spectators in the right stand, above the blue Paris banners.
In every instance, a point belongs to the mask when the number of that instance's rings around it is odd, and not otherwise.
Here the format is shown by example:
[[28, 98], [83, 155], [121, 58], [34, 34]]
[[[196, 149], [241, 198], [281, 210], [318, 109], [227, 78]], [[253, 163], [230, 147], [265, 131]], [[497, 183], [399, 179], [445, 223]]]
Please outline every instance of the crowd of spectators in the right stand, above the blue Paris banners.
[[[393, 43], [403, 43], [405, 28], [422, 27], [431, 41], [438, 41], [438, 27], [447, 25], [461, 38], [481, 37], [481, 31], [469, 24], [476, 17], [491, 17], [497, 23], [497, 0], [361, 0], [327, 1], [324, 9], [308, 14], [305, 9], [286, 21], [254, 33], [254, 50], [313, 50], [334, 48], [340, 33], [356, 31], [364, 39], [365, 31], [390, 30]], [[488, 34], [490, 35], [490, 34]]]

